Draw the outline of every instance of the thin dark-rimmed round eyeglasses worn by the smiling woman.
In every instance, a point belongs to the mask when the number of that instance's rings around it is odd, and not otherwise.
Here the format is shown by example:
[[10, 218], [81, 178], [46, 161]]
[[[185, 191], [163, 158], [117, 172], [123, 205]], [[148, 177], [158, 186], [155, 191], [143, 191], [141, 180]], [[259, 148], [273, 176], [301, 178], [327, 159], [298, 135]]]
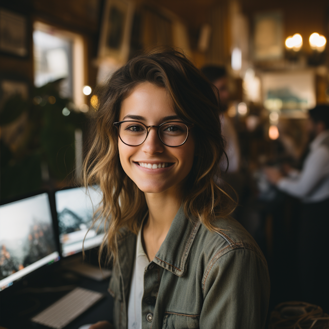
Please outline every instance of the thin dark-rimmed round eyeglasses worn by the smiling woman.
[[175, 148], [184, 144], [193, 124], [179, 121], [163, 122], [160, 125], [145, 125], [139, 121], [119, 121], [113, 123], [118, 130], [121, 141], [129, 146], [138, 146], [147, 139], [150, 129], [156, 128], [163, 144]]

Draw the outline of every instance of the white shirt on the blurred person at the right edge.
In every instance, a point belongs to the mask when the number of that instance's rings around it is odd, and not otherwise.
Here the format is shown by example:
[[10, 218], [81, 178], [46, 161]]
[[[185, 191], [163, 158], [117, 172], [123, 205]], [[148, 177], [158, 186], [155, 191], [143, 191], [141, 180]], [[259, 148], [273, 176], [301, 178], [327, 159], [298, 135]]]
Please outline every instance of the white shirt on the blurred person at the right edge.
[[304, 203], [329, 198], [329, 148], [321, 144], [327, 137], [329, 130], [314, 139], [302, 171], [294, 177], [280, 179], [277, 184], [280, 190], [301, 198]]

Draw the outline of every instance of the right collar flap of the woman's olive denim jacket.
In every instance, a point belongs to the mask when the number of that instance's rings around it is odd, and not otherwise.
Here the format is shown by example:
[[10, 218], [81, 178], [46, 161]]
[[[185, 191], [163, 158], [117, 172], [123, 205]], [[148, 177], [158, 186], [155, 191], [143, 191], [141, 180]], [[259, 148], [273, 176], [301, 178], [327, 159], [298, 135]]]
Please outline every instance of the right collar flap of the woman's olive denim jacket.
[[190, 250], [200, 225], [199, 220], [187, 218], [183, 206], [181, 206], [153, 262], [178, 277], [184, 276], [187, 271]]

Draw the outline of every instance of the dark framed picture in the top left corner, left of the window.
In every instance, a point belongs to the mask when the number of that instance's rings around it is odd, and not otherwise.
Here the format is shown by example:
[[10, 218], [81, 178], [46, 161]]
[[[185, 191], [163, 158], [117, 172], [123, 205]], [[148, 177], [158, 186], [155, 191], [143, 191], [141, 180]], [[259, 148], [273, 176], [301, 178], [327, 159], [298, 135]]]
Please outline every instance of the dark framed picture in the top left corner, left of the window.
[[28, 56], [26, 16], [0, 8], [0, 51], [19, 57]]

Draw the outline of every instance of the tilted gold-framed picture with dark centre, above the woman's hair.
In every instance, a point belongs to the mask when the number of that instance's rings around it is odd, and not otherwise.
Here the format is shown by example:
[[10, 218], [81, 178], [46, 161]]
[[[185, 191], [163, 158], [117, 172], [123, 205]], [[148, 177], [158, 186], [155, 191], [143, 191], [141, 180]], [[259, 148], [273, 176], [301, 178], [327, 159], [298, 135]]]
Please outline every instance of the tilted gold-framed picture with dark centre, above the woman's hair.
[[130, 0], [106, 0], [99, 43], [99, 59], [124, 64], [129, 57], [134, 4]]

